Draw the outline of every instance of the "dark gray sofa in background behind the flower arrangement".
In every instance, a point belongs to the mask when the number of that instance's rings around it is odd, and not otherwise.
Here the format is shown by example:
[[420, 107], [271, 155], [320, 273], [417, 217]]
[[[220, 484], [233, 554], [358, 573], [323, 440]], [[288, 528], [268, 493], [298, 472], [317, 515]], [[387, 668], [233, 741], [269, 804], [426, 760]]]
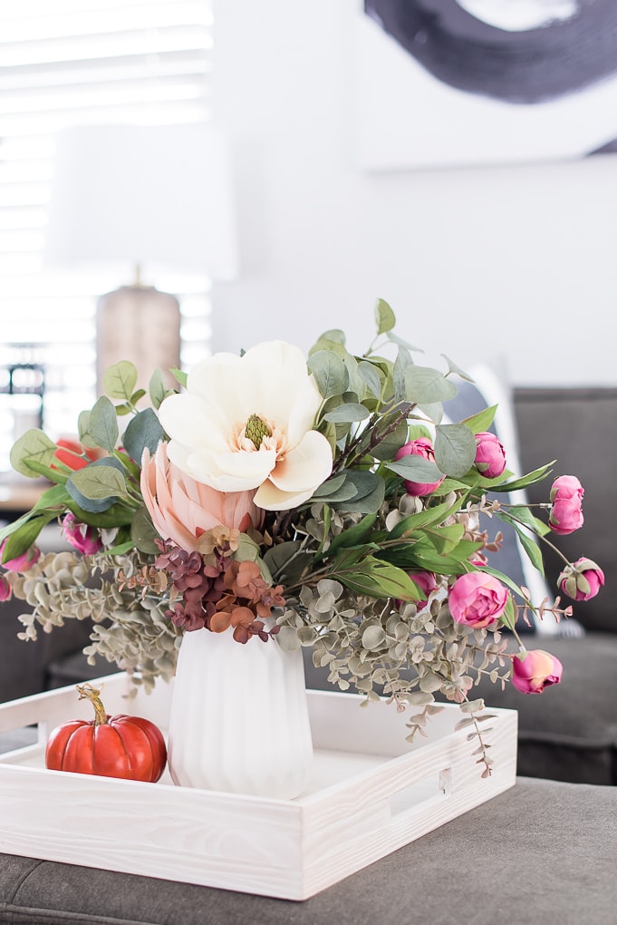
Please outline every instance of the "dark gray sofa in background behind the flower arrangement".
[[[612, 601], [617, 544], [611, 520], [617, 514], [617, 389], [520, 388], [514, 392], [514, 407], [524, 471], [556, 458], [556, 475], [578, 475], [585, 486], [585, 524], [575, 534], [559, 537], [558, 545], [570, 560], [585, 555], [597, 561], [606, 586], [597, 598], [574, 604], [585, 636], [527, 641], [528, 648], [548, 648], [563, 662], [561, 685], [540, 696], [524, 696], [511, 685], [502, 692], [488, 683], [479, 686], [478, 694], [492, 706], [518, 710], [519, 774], [617, 784], [617, 621]], [[549, 486], [550, 481], [532, 486], [530, 500], [546, 500]], [[549, 554], [547, 565], [556, 593], [562, 563]], [[20, 609], [19, 601], [0, 604], [0, 700], [108, 672], [106, 663], [91, 669], [79, 653], [88, 641], [87, 624], [72, 623], [41, 634], [37, 643], [23, 643], [16, 636]], [[307, 683], [328, 685], [325, 673], [313, 669], [309, 659]]]

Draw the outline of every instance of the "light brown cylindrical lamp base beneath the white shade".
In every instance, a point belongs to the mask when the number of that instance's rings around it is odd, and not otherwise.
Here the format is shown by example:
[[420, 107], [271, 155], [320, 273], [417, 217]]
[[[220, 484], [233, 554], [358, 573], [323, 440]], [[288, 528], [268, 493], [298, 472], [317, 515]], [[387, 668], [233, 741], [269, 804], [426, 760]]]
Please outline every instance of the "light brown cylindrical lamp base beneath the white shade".
[[177, 388], [169, 369], [180, 365], [180, 304], [153, 286], [121, 286], [103, 295], [96, 310], [96, 388], [103, 394], [108, 366], [130, 360], [139, 388], [148, 389], [158, 366], [165, 383]]

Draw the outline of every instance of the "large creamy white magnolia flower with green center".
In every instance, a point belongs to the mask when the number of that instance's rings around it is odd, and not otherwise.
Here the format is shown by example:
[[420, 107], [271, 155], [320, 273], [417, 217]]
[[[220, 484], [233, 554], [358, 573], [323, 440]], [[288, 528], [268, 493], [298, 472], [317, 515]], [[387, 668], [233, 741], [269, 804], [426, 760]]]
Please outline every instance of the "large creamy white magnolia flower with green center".
[[312, 429], [320, 405], [302, 351], [275, 340], [202, 361], [159, 417], [183, 472], [219, 491], [257, 488], [258, 507], [286, 511], [332, 472], [330, 443]]

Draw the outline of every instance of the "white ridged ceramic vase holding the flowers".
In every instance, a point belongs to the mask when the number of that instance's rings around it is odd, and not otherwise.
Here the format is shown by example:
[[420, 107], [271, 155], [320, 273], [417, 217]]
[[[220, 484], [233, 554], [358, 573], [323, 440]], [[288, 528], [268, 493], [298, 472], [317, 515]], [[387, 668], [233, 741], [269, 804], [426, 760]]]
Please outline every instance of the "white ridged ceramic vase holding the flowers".
[[302, 653], [231, 630], [182, 638], [169, 722], [174, 783], [293, 799], [312, 762]]

